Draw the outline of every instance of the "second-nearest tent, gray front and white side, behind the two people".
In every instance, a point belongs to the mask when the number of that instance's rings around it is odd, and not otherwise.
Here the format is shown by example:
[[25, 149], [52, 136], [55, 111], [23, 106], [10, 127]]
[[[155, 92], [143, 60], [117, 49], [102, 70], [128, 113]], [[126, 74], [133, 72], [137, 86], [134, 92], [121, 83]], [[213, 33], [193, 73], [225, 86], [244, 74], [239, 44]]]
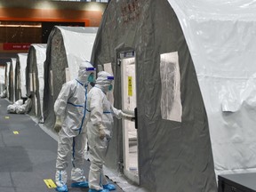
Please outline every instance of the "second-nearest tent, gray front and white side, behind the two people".
[[79, 63], [90, 60], [98, 28], [54, 27], [44, 62], [44, 125], [55, 123], [53, 105], [62, 84], [77, 76]]

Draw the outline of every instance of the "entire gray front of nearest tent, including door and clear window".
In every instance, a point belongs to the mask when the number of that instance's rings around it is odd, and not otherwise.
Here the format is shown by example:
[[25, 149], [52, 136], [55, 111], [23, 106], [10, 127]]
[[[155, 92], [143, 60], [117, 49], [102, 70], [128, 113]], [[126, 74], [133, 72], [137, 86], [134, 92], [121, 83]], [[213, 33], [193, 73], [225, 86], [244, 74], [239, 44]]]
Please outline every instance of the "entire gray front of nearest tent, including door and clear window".
[[137, 118], [116, 120], [108, 168], [148, 191], [217, 191], [204, 101], [168, 1], [110, 1], [91, 61], [113, 71], [114, 106]]

